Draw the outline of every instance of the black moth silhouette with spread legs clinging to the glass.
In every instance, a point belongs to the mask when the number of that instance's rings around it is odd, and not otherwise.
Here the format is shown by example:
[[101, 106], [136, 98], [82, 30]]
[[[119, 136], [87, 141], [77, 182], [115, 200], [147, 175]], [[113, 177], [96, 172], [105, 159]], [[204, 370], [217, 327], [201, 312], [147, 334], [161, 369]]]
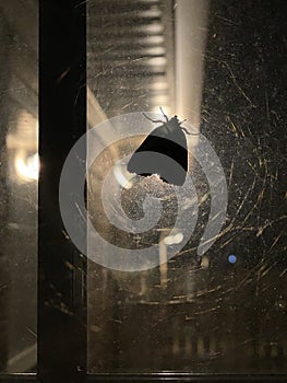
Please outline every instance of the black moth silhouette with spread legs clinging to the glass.
[[[164, 182], [181, 186], [188, 172], [188, 144], [186, 135], [191, 135], [175, 116], [170, 119], [160, 108], [166, 121], [147, 119], [162, 125], [154, 129], [128, 163], [128, 171], [142, 176], [157, 174]], [[183, 132], [184, 131], [184, 132]]]

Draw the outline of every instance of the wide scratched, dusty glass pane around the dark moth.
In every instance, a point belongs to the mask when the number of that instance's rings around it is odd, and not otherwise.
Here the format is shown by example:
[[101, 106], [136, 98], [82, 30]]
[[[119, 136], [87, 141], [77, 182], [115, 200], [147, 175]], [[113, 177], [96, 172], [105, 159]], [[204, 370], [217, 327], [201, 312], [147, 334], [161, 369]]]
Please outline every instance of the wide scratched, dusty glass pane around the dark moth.
[[[88, 0], [89, 373], [287, 372], [284, 4]], [[127, 170], [159, 107], [190, 184]]]

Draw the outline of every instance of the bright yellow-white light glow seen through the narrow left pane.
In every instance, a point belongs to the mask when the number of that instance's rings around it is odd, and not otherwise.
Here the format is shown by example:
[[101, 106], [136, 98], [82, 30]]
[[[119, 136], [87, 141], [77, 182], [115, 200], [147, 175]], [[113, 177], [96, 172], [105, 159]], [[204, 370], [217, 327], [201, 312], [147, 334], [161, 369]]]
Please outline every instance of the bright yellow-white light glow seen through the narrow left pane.
[[15, 170], [17, 176], [23, 181], [35, 181], [39, 177], [39, 156], [38, 153], [15, 158]]

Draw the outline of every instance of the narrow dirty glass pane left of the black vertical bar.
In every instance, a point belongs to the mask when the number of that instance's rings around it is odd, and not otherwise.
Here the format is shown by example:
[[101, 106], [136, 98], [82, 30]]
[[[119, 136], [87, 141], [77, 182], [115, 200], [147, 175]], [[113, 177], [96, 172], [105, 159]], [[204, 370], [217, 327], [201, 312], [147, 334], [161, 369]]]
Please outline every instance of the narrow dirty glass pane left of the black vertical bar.
[[36, 1], [0, 3], [0, 372], [36, 369]]

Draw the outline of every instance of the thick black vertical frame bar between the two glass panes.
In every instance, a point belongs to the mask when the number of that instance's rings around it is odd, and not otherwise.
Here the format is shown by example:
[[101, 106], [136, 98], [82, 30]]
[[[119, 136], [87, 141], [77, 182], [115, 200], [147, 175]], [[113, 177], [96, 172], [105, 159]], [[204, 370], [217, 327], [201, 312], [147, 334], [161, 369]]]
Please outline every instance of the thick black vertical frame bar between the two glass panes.
[[38, 375], [72, 383], [86, 365], [85, 265], [64, 233], [59, 179], [86, 130], [85, 2], [40, 1], [39, 25]]

